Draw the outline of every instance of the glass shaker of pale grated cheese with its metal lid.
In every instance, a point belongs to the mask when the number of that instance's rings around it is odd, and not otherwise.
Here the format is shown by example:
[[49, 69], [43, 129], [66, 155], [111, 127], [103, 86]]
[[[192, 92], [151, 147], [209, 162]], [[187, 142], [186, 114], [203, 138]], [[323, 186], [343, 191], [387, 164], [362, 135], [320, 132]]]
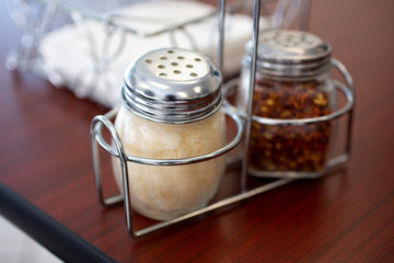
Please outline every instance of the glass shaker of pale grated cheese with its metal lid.
[[[115, 128], [131, 156], [178, 159], [225, 146], [221, 76], [202, 55], [162, 48], [139, 57], [125, 72], [123, 106]], [[113, 158], [123, 190], [119, 162]], [[141, 215], [170, 220], [201, 208], [216, 194], [225, 157], [183, 165], [127, 162], [131, 206]]]

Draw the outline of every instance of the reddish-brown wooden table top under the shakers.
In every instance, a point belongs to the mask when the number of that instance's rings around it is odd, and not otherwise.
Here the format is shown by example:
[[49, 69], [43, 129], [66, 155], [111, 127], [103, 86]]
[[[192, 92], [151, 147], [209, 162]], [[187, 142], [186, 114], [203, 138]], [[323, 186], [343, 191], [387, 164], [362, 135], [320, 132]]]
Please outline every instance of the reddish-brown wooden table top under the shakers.
[[[346, 168], [135, 239], [93, 183], [90, 122], [107, 110], [4, 67], [21, 35], [0, 11], [0, 182], [119, 262], [393, 262], [394, 2], [312, 1], [357, 89]], [[43, 229], [45, 231], [45, 229]]]

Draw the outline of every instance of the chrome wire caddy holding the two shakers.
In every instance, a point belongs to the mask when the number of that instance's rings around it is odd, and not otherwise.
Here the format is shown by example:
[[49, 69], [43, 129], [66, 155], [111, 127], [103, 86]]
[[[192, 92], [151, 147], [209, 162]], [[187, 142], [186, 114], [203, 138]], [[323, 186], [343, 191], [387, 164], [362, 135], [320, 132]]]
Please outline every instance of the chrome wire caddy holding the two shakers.
[[[240, 145], [242, 140], [248, 141], [251, 136], [251, 124], [252, 122], [257, 122], [259, 124], [267, 124], [267, 125], [305, 125], [305, 124], [312, 124], [312, 123], [318, 123], [318, 122], [332, 122], [341, 117], [347, 116], [346, 118], [346, 130], [345, 130], [345, 149], [341, 153], [339, 153], [337, 157], [331, 158], [325, 168], [316, 174], [315, 178], [321, 176], [331, 170], [339, 167], [340, 164], [345, 163], [349, 159], [350, 149], [351, 149], [351, 123], [352, 123], [352, 112], [354, 112], [354, 105], [355, 105], [355, 90], [354, 84], [350, 75], [347, 73], [345, 67], [338, 62], [337, 60], [333, 59], [332, 64], [334, 67], [336, 67], [343, 75], [346, 84], [335, 81], [334, 85], [335, 89], [338, 91], [338, 93], [343, 94], [346, 99], [346, 103], [340, 108], [336, 110], [335, 112], [320, 117], [312, 117], [312, 118], [305, 118], [305, 119], [273, 119], [273, 118], [262, 118], [256, 117], [252, 115], [252, 102], [251, 98], [254, 95], [254, 89], [255, 85], [255, 76], [256, 76], [256, 64], [257, 64], [257, 43], [258, 43], [258, 34], [259, 34], [259, 14], [260, 14], [260, 4], [265, 1], [254, 1], [253, 5], [253, 38], [252, 42], [254, 44], [253, 49], [253, 57], [251, 61], [251, 81], [250, 81], [250, 94], [248, 94], [248, 104], [245, 112], [240, 112], [236, 107], [234, 107], [227, 99], [223, 103], [223, 111], [228, 117], [230, 117], [231, 122], [235, 124], [236, 126], [236, 133], [233, 136], [233, 138], [228, 142], [224, 147], [221, 149], [209, 152], [207, 155], [202, 156], [196, 156], [192, 158], [183, 158], [183, 159], [150, 159], [150, 158], [142, 158], [138, 156], [130, 156], [127, 155], [124, 148], [124, 145], [121, 140], [119, 139], [119, 135], [114, 126], [114, 118], [117, 114], [117, 108], [106, 113], [105, 115], [100, 115], [93, 118], [92, 125], [91, 125], [91, 146], [92, 146], [92, 155], [93, 155], [93, 167], [94, 167], [94, 178], [95, 178], [95, 184], [96, 184], [96, 191], [99, 195], [100, 203], [103, 206], [112, 206], [114, 204], [124, 202], [125, 206], [125, 213], [126, 213], [126, 225], [127, 230], [129, 233], [134, 237], [139, 237], [147, 235], [149, 232], [162, 229], [164, 227], [177, 224], [179, 221], [196, 217], [198, 215], [206, 214], [208, 211], [216, 210], [218, 208], [234, 204], [236, 202], [247, 199], [250, 197], [253, 197], [255, 195], [262, 194], [264, 192], [267, 192], [269, 190], [279, 187], [281, 185], [288, 184], [290, 182], [293, 182], [298, 179], [296, 178], [282, 178], [282, 179], [276, 179], [268, 183], [262, 184], [259, 186], [255, 186], [252, 188], [248, 188], [246, 186], [247, 178], [251, 176], [248, 174], [248, 155], [247, 155], [247, 147], [243, 147], [239, 155], [236, 155], [234, 158], [228, 159], [228, 169], [232, 169], [232, 167], [236, 165], [236, 169], [240, 170], [240, 192], [237, 194], [231, 195], [229, 197], [224, 197], [222, 199], [216, 201], [213, 203], [210, 203], [208, 206], [197, 209], [195, 211], [188, 213], [186, 215], [183, 215], [181, 217], [177, 217], [172, 220], [167, 221], [159, 221], [153, 222], [152, 225], [148, 227], [143, 227], [140, 229], [137, 229], [134, 220], [135, 220], [135, 211], [132, 209], [132, 199], [130, 196], [129, 191], [129, 176], [128, 174], [132, 171], [128, 171], [128, 162], [144, 164], [144, 165], [184, 165], [184, 164], [190, 164], [190, 163], [197, 163], [202, 162], [206, 160], [213, 159], [219, 156], [223, 156], [231, 150], [233, 150], [236, 146]], [[309, 1], [301, 1], [303, 3], [302, 12], [302, 19], [303, 30], [305, 30], [305, 21], [308, 21], [308, 11], [309, 11]], [[218, 47], [218, 65], [221, 69], [223, 64], [223, 24], [225, 19], [225, 1], [221, 0], [219, 2], [219, 9], [218, 9], [218, 18], [219, 18], [219, 32], [220, 32], [220, 39], [219, 39], [219, 47]], [[237, 79], [230, 80], [224, 84], [223, 93], [224, 98], [229, 96], [233, 88], [237, 84]], [[104, 128], [109, 134], [109, 142], [104, 139], [103, 132]], [[101, 147], [101, 148], [100, 148]], [[120, 167], [121, 167], [121, 178], [123, 178], [123, 192], [124, 194], [113, 195], [113, 196], [104, 196], [104, 183], [102, 180], [102, 163], [101, 163], [101, 157], [100, 157], [100, 149], [103, 149], [105, 152], [111, 155], [112, 157], [115, 157], [118, 159]], [[241, 164], [241, 165], [240, 165]], [[241, 168], [240, 168], [241, 167]], [[224, 175], [225, 180], [225, 175]]]

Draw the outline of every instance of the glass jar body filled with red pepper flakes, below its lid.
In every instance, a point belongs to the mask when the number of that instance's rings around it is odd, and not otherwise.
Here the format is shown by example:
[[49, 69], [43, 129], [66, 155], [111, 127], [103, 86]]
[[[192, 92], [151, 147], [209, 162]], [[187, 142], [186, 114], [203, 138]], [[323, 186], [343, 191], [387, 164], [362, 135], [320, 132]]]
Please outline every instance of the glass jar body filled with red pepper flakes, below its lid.
[[[242, 72], [239, 107], [245, 108], [250, 69]], [[253, 115], [275, 119], [324, 116], [336, 107], [328, 72], [313, 77], [277, 77], [256, 73]], [[333, 123], [267, 125], [252, 122], [248, 145], [250, 172], [258, 176], [316, 176], [326, 165]]]

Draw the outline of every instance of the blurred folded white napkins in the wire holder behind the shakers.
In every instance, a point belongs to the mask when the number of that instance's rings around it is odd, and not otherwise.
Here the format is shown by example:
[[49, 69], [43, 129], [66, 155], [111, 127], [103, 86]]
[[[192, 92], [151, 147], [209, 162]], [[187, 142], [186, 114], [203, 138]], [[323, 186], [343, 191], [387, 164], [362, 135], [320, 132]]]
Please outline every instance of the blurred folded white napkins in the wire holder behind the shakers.
[[[149, 50], [178, 46], [196, 49], [216, 61], [219, 38], [217, 15], [172, 33], [142, 36], [215, 11], [215, 7], [196, 1], [141, 1], [106, 13], [120, 26], [109, 26], [71, 13], [76, 23], [43, 37], [39, 45], [43, 69], [54, 84], [67, 87], [77, 96], [116, 107], [120, 103], [119, 92], [126, 67]], [[252, 37], [252, 23], [248, 15], [227, 15], [224, 76], [240, 70], [243, 46]], [[260, 27], [268, 26], [264, 19], [260, 23]], [[139, 32], [131, 34], [125, 28], [138, 28]]]

